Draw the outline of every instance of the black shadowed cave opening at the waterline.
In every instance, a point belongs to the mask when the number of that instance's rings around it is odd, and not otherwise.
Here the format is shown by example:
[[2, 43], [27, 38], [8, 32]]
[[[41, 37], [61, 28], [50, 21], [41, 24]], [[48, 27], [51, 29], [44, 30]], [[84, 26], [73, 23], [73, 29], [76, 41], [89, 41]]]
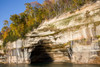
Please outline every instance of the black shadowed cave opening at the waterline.
[[32, 50], [30, 56], [31, 64], [53, 62], [52, 57], [47, 53], [46, 48], [43, 45], [43, 43], [38, 43], [38, 45]]

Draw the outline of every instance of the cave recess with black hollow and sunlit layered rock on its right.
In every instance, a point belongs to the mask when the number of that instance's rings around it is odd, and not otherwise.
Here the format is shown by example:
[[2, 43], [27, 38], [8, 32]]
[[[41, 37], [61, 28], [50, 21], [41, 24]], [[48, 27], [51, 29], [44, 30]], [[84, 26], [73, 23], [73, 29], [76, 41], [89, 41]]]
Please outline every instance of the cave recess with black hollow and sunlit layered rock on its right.
[[31, 63], [66, 62], [69, 58], [65, 54], [59, 48], [53, 48], [47, 40], [40, 40], [32, 50], [30, 59]]

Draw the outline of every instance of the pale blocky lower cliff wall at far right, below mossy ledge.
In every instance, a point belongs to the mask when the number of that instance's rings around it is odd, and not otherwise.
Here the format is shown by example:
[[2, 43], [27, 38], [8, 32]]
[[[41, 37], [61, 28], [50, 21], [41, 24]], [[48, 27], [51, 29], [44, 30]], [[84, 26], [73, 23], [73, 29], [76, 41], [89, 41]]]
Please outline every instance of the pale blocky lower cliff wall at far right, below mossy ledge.
[[[90, 45], [75, 43], [73, 45], [72, 62], [79, 64], [98, 64], [100, 63], [100, 55], [98, 54], [99, 52], [100, 47], [98, 43], [91, 43]], [[93, 61], [95, 61], [95, 63]]]

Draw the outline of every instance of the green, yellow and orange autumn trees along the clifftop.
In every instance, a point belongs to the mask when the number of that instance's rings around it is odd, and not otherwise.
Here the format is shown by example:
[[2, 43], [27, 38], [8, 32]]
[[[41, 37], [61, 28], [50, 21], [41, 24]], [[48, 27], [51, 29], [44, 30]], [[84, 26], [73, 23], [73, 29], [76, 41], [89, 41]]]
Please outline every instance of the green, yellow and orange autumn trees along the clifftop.
[[[11, 15], [10, 21], [4, 21], [2, 35], [4, 45], [18, 38], [25, 38], [25, 34], [37, 28], [43, 20], [48, 20], [64, 12], [79, 9], [85, 3], [96, 0], [45, 0], [42, 4], [37, 1], [26, 3], [26, 10], [20, 14]], [[0, 38], [1, 38], [0, 37]]]

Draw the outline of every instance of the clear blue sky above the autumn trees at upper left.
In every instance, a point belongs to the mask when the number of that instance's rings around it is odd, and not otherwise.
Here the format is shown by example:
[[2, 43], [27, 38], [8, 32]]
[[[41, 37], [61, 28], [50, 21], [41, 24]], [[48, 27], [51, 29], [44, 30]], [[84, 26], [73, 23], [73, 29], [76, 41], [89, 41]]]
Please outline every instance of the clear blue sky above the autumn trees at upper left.
[[3, 27], [4, 20], [10, 21], [10, 15], [24, 12], [24, 4], [33, 1], [43, 3], [43, 0], [0, 0], [0, 31]]

